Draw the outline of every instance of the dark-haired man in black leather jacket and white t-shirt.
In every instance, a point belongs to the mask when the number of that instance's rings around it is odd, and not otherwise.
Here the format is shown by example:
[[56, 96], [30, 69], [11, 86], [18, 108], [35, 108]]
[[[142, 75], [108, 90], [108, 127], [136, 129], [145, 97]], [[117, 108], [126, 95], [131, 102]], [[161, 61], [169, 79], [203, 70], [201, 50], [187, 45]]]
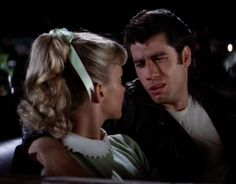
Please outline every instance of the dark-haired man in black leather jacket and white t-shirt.
[[144, 10], [124, 44], [138, 79], [127, 83], [123, 118], [107, 130], [134, 138], [161, 181], [234, 181], [234, 103], [192, 79], [187, 25], [168, 10]]

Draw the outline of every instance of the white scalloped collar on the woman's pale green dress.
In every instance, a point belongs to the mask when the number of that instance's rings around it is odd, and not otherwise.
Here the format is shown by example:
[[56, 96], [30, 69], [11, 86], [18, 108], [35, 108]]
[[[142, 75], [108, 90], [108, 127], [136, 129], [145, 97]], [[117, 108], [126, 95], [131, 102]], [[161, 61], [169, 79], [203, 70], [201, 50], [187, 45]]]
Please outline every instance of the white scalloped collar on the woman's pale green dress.
[[63, 144], [67, 149], [73, 152], [79, 152], [88, 157], [104, 157], [110, 151], [110, 142], [105, 130], [101, 129], [103, 136], [102, 140], [89, 139], [78, 134], [70, 132], [63, 138]]

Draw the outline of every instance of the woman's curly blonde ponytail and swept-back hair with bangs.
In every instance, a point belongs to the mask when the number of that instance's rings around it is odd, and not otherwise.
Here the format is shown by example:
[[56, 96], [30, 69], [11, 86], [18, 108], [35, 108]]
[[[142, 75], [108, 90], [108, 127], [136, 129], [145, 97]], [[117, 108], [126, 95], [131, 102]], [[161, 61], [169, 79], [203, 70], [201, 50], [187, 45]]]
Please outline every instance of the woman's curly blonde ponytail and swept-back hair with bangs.
[[[71, 44], [93, 82], [106, 83], [109, 66], [127, 60], [123, 46], [94, 33], [74, 33]], [[70, 114], [88, 94], [69, 57], [70, 47], [63, 36], [44, 33], [34, 41], [25, 95], [17, 110], [23, 127], [45, 130], [56, 138], [71, 131]]]

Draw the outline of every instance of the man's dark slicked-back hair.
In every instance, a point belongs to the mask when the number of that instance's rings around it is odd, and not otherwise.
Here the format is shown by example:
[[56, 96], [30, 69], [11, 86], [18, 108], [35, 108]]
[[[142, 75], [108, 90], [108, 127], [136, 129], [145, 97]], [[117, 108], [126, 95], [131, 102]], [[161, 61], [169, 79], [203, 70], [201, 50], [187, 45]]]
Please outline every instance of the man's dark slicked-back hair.
[[192, 48], [192, 33], [174, 13], [166, 9], [142, 10], [135, 15], [123, 31], [124, 45], [144, 43], [152, 36], [164, 33], [167, 43], [180, 54], [184, 46]]

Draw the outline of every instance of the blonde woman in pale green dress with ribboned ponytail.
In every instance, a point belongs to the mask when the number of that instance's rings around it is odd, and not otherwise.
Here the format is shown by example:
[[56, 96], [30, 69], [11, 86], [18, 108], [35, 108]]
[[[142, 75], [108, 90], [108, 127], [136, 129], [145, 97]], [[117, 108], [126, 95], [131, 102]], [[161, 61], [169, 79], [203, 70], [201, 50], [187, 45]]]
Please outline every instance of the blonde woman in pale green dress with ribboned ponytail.
[[90, 32], [54, 29], [34, 41], [18, 114], [23, 128], [47, 132], [66, 148], [62, 156], [58, 142], [47, 146], [49, 137], [32, 142], [28, 153], [43, 166], [42, 175], [76, 175], [76, 160], [89, 177], [148, 178], [138, 145], [101, 128], [121, 116], [126, 60], [120, 44]]

